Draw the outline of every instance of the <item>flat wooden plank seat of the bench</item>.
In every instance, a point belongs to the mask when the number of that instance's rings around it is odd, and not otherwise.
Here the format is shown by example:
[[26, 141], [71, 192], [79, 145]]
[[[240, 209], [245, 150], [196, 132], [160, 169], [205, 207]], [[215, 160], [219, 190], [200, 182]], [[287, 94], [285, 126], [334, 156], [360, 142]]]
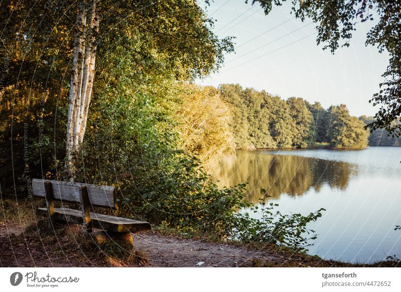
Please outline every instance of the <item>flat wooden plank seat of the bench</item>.
[[[48, 215], [47, 208], [38, 208], [37, 213], [39, 215]], [[55, 208], [54, 213], [56, 216], [56, 222], [75, 222], [78, 224], [83, 223], [82, 211], [68, 208]], [[128, 218], [121, 218], [115, 216], [109, 216], [104, 214], [98, 214], [90, 212], [92, 221], [92, 227], [104, 229], [114, 232], [136, 232], [150, 230], [150, 223], [145, 221], [133, 220]]]

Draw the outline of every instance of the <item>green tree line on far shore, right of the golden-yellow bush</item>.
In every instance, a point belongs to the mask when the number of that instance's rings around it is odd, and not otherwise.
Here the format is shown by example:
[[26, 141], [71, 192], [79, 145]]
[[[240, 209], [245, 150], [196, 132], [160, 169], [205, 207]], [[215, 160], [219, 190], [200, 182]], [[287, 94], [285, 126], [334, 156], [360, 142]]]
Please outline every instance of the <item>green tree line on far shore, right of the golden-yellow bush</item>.
[[223, 84], [222, 99], [232, 110], [231, 126], [237, 149], [311, 148], [364, 149], [369, 132], [344, 104], [325, 109], [319, 102]]

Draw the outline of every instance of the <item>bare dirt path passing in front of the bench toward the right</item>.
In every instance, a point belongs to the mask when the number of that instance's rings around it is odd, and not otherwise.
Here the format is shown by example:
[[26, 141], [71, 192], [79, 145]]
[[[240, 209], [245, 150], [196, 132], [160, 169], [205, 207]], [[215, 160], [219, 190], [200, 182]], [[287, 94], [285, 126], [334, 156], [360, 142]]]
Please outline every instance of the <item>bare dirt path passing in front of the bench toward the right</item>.
[[[89, 258], [79, 244], [66, 248], [54, 235], [47, 238], [22, 234], [18, 223], [0, 224], [0, 264], [3, 267], [99, 267], [124, 266], [105, 258]], [[25, 230], [25, 232], [29, 232]], [[32, 232], [31, 232], [32, 233]], [[38, 233], [39, 234], [39, 233]], [[16, 241], [16, 238], [19, 238]], [[50, 241], [49, 241], [50, 238]], [[240, 245], [184, 239], [157, 232], [133, 235], [134, 245], [150, 267], [237, 267], [237, 266], [346, 266], [297, 254], [283, 254]], [[63, 246], [63, 247], [62, 247]], [[202, 264], [199, 264], [203, 262]], [[125, 265], [127, 266], [127, 265]]]

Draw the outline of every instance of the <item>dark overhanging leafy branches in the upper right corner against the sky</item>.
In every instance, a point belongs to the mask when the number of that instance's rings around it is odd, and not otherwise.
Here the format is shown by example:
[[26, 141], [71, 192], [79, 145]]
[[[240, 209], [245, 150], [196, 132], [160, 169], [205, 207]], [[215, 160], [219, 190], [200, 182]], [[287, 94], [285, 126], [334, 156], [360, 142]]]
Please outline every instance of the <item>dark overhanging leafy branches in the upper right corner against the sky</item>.
[[[248, 0], [246, 0], [248, 2]], [[286, 0], [253, 0], [265, 14], [273, 5], [281, 6]], [[358, 22], [375, 21], [366, 35], [365, 45], [377, 46], [381, 53], [387, 51], [390, 59], [382, 74], [380, 91], [369, 102], [379, 105], [374, 120], [367, 124], [371, 131], [385, 128], [394, 137], [401, 135], [401, 2], [392, 0], [291, 0], [291, 13], [301, 21], [306, 18], [317, 24], [317, 44], [332, 53], [340, 46], [349, 46], [352, 32]], [[341, 41], [343, 41], [341, 43]]]

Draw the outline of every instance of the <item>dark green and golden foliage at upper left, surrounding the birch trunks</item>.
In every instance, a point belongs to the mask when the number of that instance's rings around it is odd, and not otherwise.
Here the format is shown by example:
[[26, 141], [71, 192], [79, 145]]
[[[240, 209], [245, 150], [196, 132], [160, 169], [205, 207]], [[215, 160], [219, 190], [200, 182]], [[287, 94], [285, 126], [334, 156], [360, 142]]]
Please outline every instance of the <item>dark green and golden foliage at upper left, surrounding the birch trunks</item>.
[[[23, 176], [28, 183], [29, 176], [54, 177], [61, 171], [57, 166], [65, 157], [74, 24], [82, 5], [90, 9], [86, 2], [47, 0], [9, 0], [0, 7], [0, 49], [5, 61], [0, 83], [0, 111], [5, 119], [0, 138], [2, 163], [15, 166], [16, 181], [6, 182], [10, 186], [19, 185], [17, 179]], [[164, 91], [166, 86], [175, 88], [174, 82], [216, 70], [224, 53], [233, 50], [230, 38], [218, 39], [213, 22], [191, 0], [101, 1], [97, 9], [94, 104], [105, 95], [111, 103], [122, 98], [135, 103], [144, 92], [147, 99], [164, 92], [169, 95], [158, 106], [166, 107], [178, 99], [177, 94]], [[118, 88], [128, 80], [133, 87]], [[89, 111], [93, 117], [96, 105]], [[24, 136], [30, 141], [27, 149]], [[46, 143], [38, 143], [39, 139]]]

